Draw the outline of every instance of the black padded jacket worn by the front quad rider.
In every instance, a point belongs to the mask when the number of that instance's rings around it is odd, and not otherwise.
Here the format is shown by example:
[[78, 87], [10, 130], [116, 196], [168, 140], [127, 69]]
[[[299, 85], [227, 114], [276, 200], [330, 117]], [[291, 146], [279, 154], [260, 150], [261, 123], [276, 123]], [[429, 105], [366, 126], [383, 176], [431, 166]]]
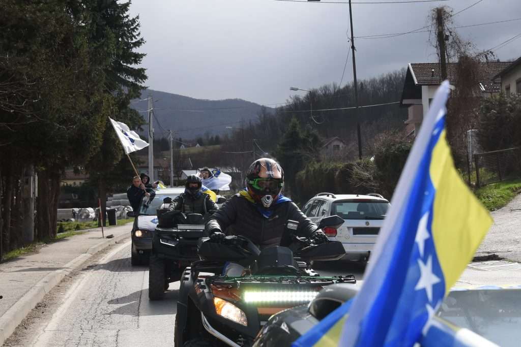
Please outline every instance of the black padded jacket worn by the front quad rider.
[[225, 230], [228, 235], [247, 237], [264, 248], [280, 245], [288, 220], [299, 222], [295, 233], [298, 236], [310, 237], [318, 229], [292, 201], [278, 203], [271, 211], [270, 217], [266, 218], [254, 203], [235, 195], [206, 223], [206, 232], [210, 235]]

